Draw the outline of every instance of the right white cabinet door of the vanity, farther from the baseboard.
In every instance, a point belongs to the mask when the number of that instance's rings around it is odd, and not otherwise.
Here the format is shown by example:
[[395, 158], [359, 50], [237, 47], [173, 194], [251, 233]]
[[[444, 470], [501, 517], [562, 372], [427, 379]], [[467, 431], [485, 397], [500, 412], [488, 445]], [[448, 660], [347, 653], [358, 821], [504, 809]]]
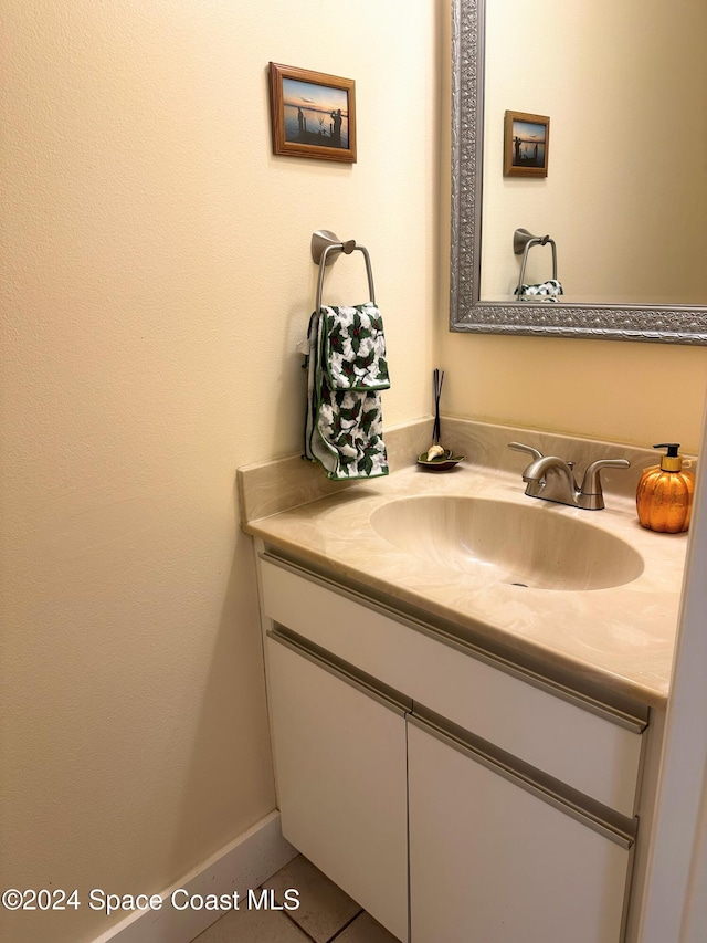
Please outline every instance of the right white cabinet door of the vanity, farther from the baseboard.
[[411, 943], [619, 943], [630, 851], [409, 724]]

